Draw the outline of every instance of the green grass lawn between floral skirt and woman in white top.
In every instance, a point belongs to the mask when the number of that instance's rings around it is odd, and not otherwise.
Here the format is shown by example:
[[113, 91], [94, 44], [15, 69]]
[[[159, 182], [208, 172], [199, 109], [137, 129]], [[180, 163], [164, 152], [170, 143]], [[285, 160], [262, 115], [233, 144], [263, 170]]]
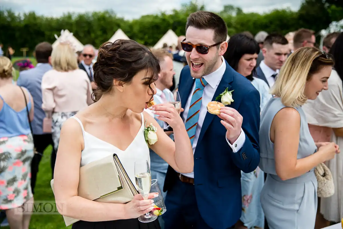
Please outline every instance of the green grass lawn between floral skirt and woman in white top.
[[[51, 157], [52, 147], [49, 146], [44, 151], [44, 156], [39, 164], [39, 171], [37, 174], [37, 183], [35, 187], [35, 202], [54, 201], [54, 194], [52, 193], [51, 181]], [[1, 227], [10, 229], [10, 227]], [[32, 215], [30, 222], [30, 229], [69, 229], [71, 226], [66, 227], [63, 217], [59, 214], [56, 215]]]

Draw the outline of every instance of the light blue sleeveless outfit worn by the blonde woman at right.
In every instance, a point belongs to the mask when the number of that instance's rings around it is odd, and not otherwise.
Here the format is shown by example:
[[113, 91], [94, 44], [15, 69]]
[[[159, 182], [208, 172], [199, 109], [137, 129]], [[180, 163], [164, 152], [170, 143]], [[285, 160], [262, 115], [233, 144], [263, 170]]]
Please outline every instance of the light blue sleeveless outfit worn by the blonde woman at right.
[[[274, 116], [284, 107], [280, 98], [272, 98], [261, 114], [259, 167], [268, 174], [261, 192], [261, 204], [270, 229], [313, 229], [318, 204], [314, 168], [285, 181], [275, 171], [274, 144], [269, 132]], [[315, 153], [317, 147], [303, 109], [296, 107], [296, 110], [300, 114], [297, 159], [301, 159]]]

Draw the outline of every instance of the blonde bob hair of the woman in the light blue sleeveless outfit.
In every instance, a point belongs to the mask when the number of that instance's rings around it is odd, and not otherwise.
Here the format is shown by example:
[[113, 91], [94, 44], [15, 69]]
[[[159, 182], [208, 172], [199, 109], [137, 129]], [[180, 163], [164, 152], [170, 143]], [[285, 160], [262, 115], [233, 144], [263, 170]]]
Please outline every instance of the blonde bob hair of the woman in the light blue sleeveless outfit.
[[318, 48], [299, 48], [287, 58], [270, 93], [280, 97], [285, 106], [304, 105], [306, 82], [324, 66], [333, 64], [333, 59]]

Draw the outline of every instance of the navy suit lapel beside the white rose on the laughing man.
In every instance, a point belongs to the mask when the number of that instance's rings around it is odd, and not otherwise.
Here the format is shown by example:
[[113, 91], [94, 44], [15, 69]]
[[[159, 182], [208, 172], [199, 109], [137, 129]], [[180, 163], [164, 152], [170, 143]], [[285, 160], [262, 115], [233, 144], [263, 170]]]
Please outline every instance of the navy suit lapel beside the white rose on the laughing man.
[[[223, 78], [221, 79], [221, 81], [220, 81], [220, 83], [219, 83], [219, 85], [218, 85], [218, 87], [217, 87], [217, 89], [213, 95], [212, 101], [215, 101], [215, 98], [219, 94], [223, 93], [223, 91], [225, 91], [226, 88], [228, 88], [228, 90], [230, 91], [231, 85], [229, 83], [231, 83], [233, 81], [233, 74], [234, 74], [234, 70], [226, 62], [226, 69], [225, 69]], [[207, 85], [207, 87], [211, 87], [211, 86]], [[209, 112], [206, 113], [204, 122], [203, 122], [202, 127], [201, 127], [198, 142], [200, 142], [202, 140], [207, 128], [209, 127], [210, 123], [212, 122], [212, 120], [215, 116], [216, 115], [210, 114]]]

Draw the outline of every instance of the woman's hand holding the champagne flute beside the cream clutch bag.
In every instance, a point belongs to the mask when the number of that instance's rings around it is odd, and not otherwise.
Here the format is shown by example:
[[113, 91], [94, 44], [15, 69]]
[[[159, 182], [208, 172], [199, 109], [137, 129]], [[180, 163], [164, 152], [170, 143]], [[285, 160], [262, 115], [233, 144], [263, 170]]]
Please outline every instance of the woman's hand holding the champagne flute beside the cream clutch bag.
[[148, 199], [143, 199], [141, 194], [133, 197], [132, 201], [125, 204], [125, 218], [134, 219], [151, 211], [154, 207], [154, 201], [150, 198], [155, 198], [158, 193], [150, 193]]

